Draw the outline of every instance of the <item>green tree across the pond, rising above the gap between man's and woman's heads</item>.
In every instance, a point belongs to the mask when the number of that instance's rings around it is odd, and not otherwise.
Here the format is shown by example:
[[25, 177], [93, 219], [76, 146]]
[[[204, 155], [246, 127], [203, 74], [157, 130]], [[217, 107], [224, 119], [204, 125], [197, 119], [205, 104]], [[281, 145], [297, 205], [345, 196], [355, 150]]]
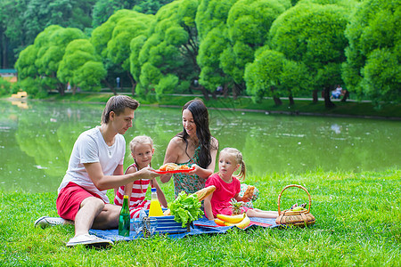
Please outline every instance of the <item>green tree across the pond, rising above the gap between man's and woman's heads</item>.
[[[139, 66], [133, 66], [136, 61], [131, 61], [133, 75], [140, 73], [137, 93], [146, 95], [156, 87], [157, 97], [170, 93], [172, 88], [176, 93], [184, 92], [199, 77], [198, 34], [194, 21], [197, 8], [197, 0], [179, 0], [157, 12], [138, 54]], [[208, 92], [202, 89], [208, 99]]]

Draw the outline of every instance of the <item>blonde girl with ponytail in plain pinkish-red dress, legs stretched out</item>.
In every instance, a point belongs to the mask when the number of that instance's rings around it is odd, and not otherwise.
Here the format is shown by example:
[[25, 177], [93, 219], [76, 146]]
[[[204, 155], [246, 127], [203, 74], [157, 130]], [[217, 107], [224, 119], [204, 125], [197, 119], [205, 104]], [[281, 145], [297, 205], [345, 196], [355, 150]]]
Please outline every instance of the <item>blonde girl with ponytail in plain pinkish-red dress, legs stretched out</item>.
[[[240, 166], [240, 174], [233, 176], [233, 173]], [[249, 199], [242, 199], [239, 196], [241, 191], [241, 182], [239, 179], [244, 179], [245, 173], [245, 163], [239, 150], [232, 148], [221, 150], [218, 159], [218, 173], [210, 175], [205, 185], [206, 187], [210, 185], [216, 186], [216, 190], [208, 198], [205, 198], [205, 214], [209, 220], [214, 220], [217, 214], [233, 214], [230, 204], [232, 198], [235, 198], [237, 201], [250, 201], [251, 197]], [[247, 206], [241, 206], [241, 212], [246, 213], [249, 217], [275, 218], [278, 215], [275, 211], [264, 211]]]

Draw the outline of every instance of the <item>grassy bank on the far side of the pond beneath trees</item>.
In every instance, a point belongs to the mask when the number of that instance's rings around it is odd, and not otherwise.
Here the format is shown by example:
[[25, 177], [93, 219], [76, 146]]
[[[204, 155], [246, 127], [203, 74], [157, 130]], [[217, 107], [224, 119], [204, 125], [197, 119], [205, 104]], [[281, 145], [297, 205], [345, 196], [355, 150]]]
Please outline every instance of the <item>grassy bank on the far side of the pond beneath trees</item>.
[[[76, 95], [66, 94], [60, 96], [54, 94], [49, 96], [48, 101], [85, 101], [85, 102], [106, 102], [111, 93], [78, 93]], [[160, 106], [178, 106], [182, 107], [185, 102], [193, 99], [192, 95], [167, 95], [160, 100], [154, 97], [143, 99], [135, 97], [136, 100], [146, 105]], [[376, 109], [371, 102], [340, 102], [335, 101], [336, 107], [326, 109], [324, 101], [313, 103], [311, 100], [295, 100], [295, 105], [291, 106], [287, 99], [282, 100], [281, 106], [276, 106], [272, 99], [264, 99], [259, 103], [254, 103], [250, 98], [232, 98], [218, 97], [217, 100], [210, 99], [206, 101], [209, 108], [217, 109], [249, 109], [262, 112], [284, 113], [291, 115], [315, 115], [315, 116], [353, 116], [353, 117], [383, 117], [401, 119], [401, 105], [388, 104], [383, 105], [381, 109]]]

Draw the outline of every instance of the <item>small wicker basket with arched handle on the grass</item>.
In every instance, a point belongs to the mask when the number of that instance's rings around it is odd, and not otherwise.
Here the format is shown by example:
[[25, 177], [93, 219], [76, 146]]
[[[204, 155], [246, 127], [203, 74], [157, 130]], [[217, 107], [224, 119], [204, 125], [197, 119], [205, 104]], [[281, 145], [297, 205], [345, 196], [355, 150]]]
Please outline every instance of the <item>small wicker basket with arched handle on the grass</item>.
[[[309, 206], [307, 207], [307, 210], [305, 209], [301, 211], [293, 211], [291, 209], [286, 209], [284, 211], [280, 210], [280, 199], [282, 198], [282, 192], [290, 187], [298, 187], [307, 192], [307, 196], [309, 197]], [[310, 198], [309, 192], [305, 187], [297, 184], [287, 185], [286, 187], [284, 187], [284, 189], [281, 191], [278, 197], [277, 205], [278, 205], [279, 216], [277, 217], [277, 219], [275, 219], [275, 223], [289, 226], [294, 225], [299, 227], [304, 227], [314, 224], [315, 216], [310, 214], [311, 204], [312, 204], [312, 199]]]

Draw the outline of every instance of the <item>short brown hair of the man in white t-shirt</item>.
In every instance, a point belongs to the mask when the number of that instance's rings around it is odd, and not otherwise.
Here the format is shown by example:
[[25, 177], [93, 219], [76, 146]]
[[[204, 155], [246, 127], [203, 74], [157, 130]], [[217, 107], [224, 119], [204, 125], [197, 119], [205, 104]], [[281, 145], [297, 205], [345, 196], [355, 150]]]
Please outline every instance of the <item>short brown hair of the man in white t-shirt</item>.
[[135, 99], [130, 98], [127, 95], [114, 95], [111, 96], [109, 101], [106, 103], [106, 107], [102, 113], [102, 124], [108, 124], [110, 120], [110, 112], [113, 111], [117, 116], [124, 112], [126, 108], [137, 109], [139, 102]]

